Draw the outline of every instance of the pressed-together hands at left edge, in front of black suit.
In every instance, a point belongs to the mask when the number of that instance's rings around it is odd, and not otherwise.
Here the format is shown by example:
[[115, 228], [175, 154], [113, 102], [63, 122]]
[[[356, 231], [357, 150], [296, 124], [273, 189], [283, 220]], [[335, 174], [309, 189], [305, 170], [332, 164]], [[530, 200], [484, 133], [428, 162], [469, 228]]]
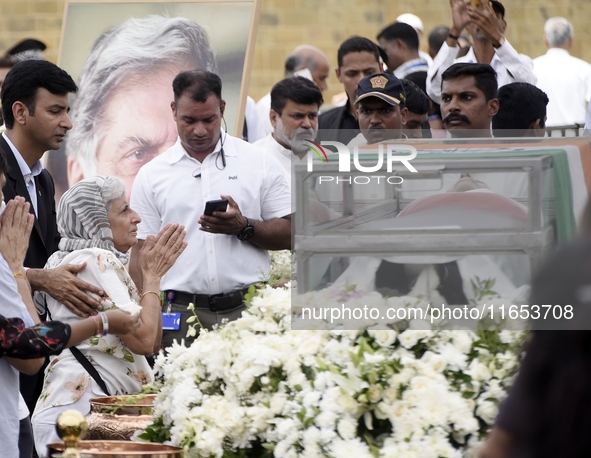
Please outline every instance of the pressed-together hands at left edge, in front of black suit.
[[0, 253], [13, 272], [23, 269], [35, 216], [30, 204], [17, 196], [6, 205], [0, 227]]

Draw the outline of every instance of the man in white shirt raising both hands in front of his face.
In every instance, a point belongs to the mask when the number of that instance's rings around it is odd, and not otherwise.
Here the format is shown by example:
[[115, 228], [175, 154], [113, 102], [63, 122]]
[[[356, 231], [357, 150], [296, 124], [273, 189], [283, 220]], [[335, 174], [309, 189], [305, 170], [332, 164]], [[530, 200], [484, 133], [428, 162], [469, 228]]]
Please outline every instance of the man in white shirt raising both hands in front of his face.
[[[504, 37], [507, 22], [501, 2], [482, 0], [479, 7], [465, 0], [450, 0], [450, 4], [453, 24], [427, 73], [427, 95], [435, 103], [441, 100], [443, 73], [458, 62], [489, 64], [497, 72], [499, 87], [514, 82], [536, 84], [531, 58], [517, 53]], [[458, 57], [458, 38], [464, 28], [474, 45], [465, 56]]]

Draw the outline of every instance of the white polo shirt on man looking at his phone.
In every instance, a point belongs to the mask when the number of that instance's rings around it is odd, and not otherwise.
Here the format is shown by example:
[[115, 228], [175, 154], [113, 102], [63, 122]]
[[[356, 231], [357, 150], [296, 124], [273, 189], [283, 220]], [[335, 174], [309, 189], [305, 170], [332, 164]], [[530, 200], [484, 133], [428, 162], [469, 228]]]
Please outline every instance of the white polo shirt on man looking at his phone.
[[[230, 195], [249, 219], [267, 221], [291, 213], [285, 173], [273, 155], [222, 132], [221, 142], [203, 163], [189, 156], [180, 139], [144, 165], [134, 183], [131, 207], [142, 217], [138, 238], [157, 234], [167, 223], [183, 224], [187, 249], [163, 277], [161, 289], [194, 294], [228, 293], [255, 283], [269, 272], [267, 250], [235, 235], [199, 230], [208, 200]], [[200, 176], [198, 176], [200, 174]]]

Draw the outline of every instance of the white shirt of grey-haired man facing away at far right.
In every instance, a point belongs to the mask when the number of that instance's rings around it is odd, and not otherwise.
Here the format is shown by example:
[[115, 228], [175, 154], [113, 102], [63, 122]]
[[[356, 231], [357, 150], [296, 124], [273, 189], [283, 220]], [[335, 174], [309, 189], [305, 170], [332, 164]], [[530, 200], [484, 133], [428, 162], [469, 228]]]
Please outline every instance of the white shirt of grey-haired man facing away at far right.
[[534, 59], [534, 73], [537, 86], [550, 99], [546, 125], [583, 124], [591, 99], [591, 65], [571, 56], [566, 49], [550, 48]]

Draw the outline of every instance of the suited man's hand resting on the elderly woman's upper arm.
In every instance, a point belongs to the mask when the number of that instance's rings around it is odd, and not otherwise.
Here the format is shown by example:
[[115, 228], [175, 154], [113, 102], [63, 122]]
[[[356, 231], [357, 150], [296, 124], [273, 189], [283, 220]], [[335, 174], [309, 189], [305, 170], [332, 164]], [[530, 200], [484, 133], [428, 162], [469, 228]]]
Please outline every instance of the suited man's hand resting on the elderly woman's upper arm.
[[103, 308], [95, 297], [104, 298], [106, 294], [98, 286], [80, 280], [76, 276], [85, 268], [86, 263], [63, 264], [54, 269], [43, 270], [43, 281], [39, 289], [57, 299], [80, 317], [95, 315], [96, 310]]

